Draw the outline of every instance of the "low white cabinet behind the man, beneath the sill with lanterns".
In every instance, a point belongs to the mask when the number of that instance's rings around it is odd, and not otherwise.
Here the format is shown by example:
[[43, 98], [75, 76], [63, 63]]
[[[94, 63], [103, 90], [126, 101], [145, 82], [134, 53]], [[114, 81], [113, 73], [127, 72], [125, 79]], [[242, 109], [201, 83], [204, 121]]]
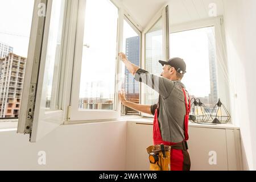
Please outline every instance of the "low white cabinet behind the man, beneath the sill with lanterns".
[[[192, 171], [242, 170], [239, 129], [225, 125], [192, 125], [189, 126], [189, 137]], [[127, 170], [148, 170], [146, 148], [150, 145], [152, 145], [152, 123], [127, 122]]]

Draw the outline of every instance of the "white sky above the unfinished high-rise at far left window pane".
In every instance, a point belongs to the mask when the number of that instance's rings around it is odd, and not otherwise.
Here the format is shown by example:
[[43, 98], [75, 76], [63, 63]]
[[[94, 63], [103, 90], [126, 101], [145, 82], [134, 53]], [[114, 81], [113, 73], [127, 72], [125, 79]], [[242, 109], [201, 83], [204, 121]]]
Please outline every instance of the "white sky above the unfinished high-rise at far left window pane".
[[34, 0], [0, 0], [0, 42], [27, 57]]

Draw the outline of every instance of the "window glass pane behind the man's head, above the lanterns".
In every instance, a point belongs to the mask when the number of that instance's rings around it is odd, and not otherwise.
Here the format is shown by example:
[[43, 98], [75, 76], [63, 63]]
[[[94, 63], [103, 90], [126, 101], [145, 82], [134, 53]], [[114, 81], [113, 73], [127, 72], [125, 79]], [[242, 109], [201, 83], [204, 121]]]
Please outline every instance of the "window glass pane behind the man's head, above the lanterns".
[[187, 64], [183, 83], [191, 97], [212, 107], [218, 101], [216, 40], [214, 27], [170, 34], [170, 56]]

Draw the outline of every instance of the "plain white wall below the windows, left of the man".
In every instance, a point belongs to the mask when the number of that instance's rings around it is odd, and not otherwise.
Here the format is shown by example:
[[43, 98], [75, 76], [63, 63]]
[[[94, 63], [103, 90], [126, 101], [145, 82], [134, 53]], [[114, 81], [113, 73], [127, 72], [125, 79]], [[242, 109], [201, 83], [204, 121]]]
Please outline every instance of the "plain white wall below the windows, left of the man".
[[[38, 143], [0, 132], [0, 170], [125, 170], [126, 122], [61, 126]], [[46, 151], [46, 166], [38, 152]]]

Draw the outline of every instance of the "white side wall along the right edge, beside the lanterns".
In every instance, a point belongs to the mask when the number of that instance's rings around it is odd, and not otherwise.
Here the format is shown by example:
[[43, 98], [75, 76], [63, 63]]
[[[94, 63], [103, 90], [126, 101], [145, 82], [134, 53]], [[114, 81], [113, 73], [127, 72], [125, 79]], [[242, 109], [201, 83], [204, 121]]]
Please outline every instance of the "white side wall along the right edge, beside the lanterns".
[[250, 170], [256, 169], [255, 7], [255, 0], [224, 0], [232, 116], [241, 127], [243, 165]]

